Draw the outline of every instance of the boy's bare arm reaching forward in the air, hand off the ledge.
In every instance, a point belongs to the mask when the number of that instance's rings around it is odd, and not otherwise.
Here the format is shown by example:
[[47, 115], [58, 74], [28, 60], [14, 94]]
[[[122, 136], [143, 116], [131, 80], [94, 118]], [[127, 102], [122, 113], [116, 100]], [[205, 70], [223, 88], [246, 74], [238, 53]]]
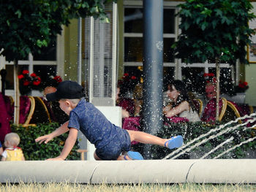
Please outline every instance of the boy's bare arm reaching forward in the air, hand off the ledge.
[[47, 144], [51, 139], [53, 139], [54, 137], [58, 137], [61, 134], [66, 133], [67, 131], [69, 131], [69, 128], [67, 127], [69, 124], [69, 121], [67, 121], [66, 123], [63, 123], [62, 126], [60, 126], [59, 128], [57, 128], [55, 131], [53, 131], [50, 134], [46, 134], [44, 136], [38, 137], [37, 139], [35, 139], [36, 142], [39, 142], [39, 144], [41, 144], [42, 142], [45, 142], [45, 144]]

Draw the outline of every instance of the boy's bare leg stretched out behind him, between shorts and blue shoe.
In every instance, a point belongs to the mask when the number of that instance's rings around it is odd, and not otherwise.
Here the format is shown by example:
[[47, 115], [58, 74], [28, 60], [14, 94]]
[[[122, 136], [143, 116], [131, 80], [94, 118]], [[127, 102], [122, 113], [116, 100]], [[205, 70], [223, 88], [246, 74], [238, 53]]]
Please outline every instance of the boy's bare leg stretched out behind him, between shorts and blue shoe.
[[157, 137], [151, 134], [147, 134], [142, 131], [131, 131], [131, 130], [127, 130], [127, 131], [129, 133], [129, 137], [131, 138], [131, 142], [136, 141], [144, 144], [165, 146], [165, 142], [168, 140], [168, 139], [162, 139], [160, 137]]

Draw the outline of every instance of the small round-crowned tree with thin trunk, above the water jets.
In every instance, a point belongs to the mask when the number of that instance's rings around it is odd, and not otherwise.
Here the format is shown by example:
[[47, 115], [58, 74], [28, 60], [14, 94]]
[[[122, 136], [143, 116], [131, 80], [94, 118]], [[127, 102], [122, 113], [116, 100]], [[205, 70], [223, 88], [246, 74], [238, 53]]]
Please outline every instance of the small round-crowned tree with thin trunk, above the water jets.
[[[255, 18], [249, 0], [187, 0], [178, 5], [181, 34], [173, 44], [176, 58], [191, 64], [214, 60], [217, 77], [217, 109], [219, 109], [219, 61], [248, 64], [246, 45], [254, 31], [249, 20]], [[217, 110], [216, 119], [219, 117]]]

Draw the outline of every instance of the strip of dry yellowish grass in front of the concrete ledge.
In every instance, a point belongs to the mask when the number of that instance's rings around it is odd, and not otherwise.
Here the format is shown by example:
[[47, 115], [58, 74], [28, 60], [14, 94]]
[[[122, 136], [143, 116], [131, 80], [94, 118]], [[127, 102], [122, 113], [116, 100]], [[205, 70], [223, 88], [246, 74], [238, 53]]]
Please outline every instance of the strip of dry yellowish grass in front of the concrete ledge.
[[19, 184], [1, 184], [1, 192], [244, 192], [256, 191], [256, 185], [211, 185], [211, 184], [141, 184], [141, 185], [81, 185], [70, 183], [19, 183]]

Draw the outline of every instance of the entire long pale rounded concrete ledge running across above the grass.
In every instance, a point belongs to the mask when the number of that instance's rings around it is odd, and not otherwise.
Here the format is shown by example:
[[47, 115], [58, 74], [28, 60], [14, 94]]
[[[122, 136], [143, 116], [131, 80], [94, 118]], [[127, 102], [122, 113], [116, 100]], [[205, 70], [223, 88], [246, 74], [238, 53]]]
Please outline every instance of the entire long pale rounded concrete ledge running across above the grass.
[[254, 159], [5, 161], [0, 183], [256, 183]]

